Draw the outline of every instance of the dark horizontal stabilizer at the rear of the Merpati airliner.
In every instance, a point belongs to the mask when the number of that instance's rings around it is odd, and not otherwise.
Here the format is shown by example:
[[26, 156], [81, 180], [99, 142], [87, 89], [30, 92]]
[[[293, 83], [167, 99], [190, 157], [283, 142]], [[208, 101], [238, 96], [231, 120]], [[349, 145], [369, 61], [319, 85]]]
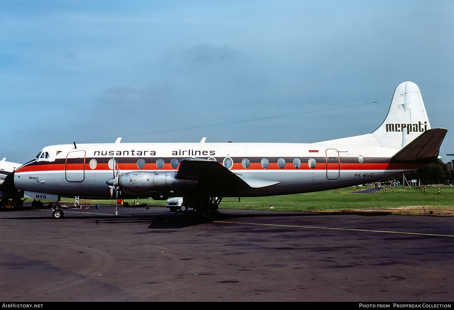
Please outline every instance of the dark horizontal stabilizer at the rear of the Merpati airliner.
[[436, 160], [440, 152], [441, 142], [443, 142], [447, 132], [444, 128], [424, 131], [419, 137], [397, 152], [391, 158], [391, 162]]

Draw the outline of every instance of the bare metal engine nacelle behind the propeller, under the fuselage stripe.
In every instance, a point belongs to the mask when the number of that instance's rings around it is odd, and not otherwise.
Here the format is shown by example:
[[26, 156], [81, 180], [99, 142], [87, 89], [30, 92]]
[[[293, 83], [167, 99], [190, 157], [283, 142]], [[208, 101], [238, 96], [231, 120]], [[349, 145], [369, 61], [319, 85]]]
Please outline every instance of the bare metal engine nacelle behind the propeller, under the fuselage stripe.
[[125, 192], [154, 192], [196, 187], [197, 180], [176, 179], [177, 171], [133, 171], [120, 174], [118, 183]]

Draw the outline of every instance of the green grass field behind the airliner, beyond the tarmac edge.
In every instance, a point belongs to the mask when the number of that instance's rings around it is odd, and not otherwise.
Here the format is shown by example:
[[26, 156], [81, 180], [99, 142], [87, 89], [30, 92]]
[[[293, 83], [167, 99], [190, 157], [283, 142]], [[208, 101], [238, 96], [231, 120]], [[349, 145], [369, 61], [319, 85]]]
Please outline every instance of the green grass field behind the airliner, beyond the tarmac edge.
[[[242, 197], [224, 198], [219, 205], [221, 209], [248, 209], [268, 210], [272, 205], [278, 211], [313, 211], [313, 212], [377, 212], [386, 211], [398, 214], [424, 214], [424, 209], [436, 210], [437, 215], [454, 215], [454, 187], [427, 186], [426, 193], [423, 187], [412, 187], [404, 193], [403, 187], [387, 187], [387, 194], [383, 187], [373, 194], [361, 194], [366, 188], [357, 187], [353, 194], [353, 187], [338, 190], [327, 190], [316, 193], [295, 194], [270, 197]], [[130, 205], [133, 199], [126, 200]], [[64, 204], [74, 204], [74, 198], [64, 198]], [[81, 200], [81, 204], [115, 204], [115, 200]], [[150, 206], [166, 206], [166, 200], [148, 199]], [[139, 199], [139, 204], [147, 204], [147, 199]], [[423, 208], [424, 206], [424, 208]]]

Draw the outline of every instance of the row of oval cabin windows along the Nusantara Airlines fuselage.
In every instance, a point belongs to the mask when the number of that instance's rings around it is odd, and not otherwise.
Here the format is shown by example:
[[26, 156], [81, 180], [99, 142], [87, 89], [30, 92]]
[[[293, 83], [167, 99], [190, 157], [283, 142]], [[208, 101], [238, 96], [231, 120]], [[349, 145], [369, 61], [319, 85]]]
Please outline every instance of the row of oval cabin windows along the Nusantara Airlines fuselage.
[[[216, 159], [214, 157], [210, 157], [208, 160], [216, 161]], [[178, 160], [178, 158], [173, 158], [172, 160], [170, 160], [170, 166], [173, 169], [177, 169], [179, 164], [180, 164], [180, 161]], [[109, 165], [109, 169], [112, 169], [112, 170], [118, 169], [117, 162], [114, 158], [109, 159], [108, 165]], [[139, 158], [137, 160], [136, 165], [137, 165], [138, 169], [145, 168], [145, 160], [143, 158]], [[224, 165], [224, 167], [226, 167], [227, 169], [232, 169], [232, 167], [233, 167], [232, 158], [230, 158], [230, 157], [224, 158], [224, 160], [222, 161], [222, 165]], [[248, 169], [249, 166], [251, 165], [251, 161], [249, 160], [249, 158], [243, 158], [241, 161], [241, 165], [244, 169]], [[260, 160], [260, 165], [262, 166], [263, 169], [267, 169], [268, 166], [270, 165], [270, 161], [266, 157], [263, 157], [262, 160]], [[314, 169], [317, 165], [315, 158], [312, 158], [312, 157], [309, 158], [309, 160], [307, 161], [307, 165], [309, 166], [309, 168]], [[95, 158], [92, 158], [89, 161], [90, 169], [94, 170], [94, 169], [96, 169], [97, 166], [98, 166], [98, 161]], [[280, 169], [284, 169], [286, 166], [286, 160], [282, 157], [279, 158], [277, 160], [277, 166]], [[156, 160], [156, 167], [158, 169], [164, 168], [164, 160], [162, 158], [158, 158]], [[293, 167], [295, 169], [300, 169], [301, 168], [301, 159], [296, 157], [293, 160]]]

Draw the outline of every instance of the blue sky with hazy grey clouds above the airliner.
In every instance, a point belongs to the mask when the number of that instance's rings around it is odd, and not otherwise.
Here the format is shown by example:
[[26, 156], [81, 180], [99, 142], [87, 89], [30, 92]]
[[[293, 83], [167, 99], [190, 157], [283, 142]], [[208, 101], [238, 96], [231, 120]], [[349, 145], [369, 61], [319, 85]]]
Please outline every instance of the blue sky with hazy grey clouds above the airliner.
[[[415, 82], [454, 153], [454, 2], [0, 2], [0, 157], [45, 145], [316, 142], [373, 131]], [[175, 129], [350, 106], [190, 130]], [[166, 131], [166, 132], [162, 132]], [[130, 136], [160, 132], [141, 136]]]

